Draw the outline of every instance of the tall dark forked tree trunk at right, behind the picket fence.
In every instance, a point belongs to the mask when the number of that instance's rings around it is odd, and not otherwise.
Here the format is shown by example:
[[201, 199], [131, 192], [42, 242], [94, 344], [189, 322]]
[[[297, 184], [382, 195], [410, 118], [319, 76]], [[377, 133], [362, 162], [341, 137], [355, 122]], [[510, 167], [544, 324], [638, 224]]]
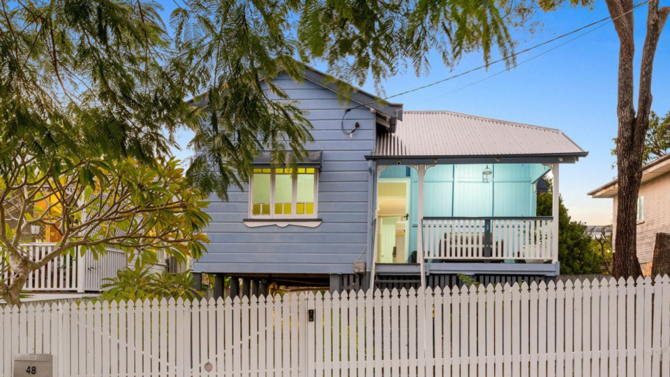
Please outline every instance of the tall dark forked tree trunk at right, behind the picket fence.
[[642, 179], [644, 140], [651, 110], [651, 77], [658, 40], [670, 8], [659, 9], [659, 0], [648, 5], [647, 34], [642, 49], [638, 109], [634, 107], [633, 58], [634, 17], [632, 0], [606, 0], [614, 29], [619, 37], [618, 73], [618, 213], [612, 274], [620, 277], [641, 276], [637, 259], [637, 195]]

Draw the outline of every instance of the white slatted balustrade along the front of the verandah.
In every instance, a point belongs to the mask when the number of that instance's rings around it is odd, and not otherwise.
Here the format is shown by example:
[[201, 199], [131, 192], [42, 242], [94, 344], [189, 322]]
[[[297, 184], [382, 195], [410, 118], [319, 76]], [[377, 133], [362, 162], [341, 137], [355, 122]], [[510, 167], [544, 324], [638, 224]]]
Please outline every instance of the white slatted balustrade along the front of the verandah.
[[552, 260], [553, 219], [424, 218], [426, 259]]

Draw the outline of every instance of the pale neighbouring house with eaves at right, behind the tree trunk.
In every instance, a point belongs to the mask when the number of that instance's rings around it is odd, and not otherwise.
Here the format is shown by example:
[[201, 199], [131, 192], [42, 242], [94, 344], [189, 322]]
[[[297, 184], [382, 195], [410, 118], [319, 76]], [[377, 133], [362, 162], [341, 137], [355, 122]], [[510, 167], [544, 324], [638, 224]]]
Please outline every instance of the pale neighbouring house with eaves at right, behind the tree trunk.
[[[613, 199], [613, 237], [616, 243], [618, 185], [616, 179], [588, 193], [593, 198]], [[637, 258], [645, 275], [651, 274], [656, 233], [670, 232], [670, 154], [642, 168], [637, 198]]]

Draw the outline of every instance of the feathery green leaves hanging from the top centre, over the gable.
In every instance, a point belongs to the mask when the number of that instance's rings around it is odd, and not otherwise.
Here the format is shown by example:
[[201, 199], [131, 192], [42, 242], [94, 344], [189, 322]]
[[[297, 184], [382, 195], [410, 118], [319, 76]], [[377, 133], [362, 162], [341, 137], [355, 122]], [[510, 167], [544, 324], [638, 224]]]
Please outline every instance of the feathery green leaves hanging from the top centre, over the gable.
[[[273, 151], [304, 155], [311, 125], [273, 83], [278, 75], [304, 80], [303, 63], [325, 61], [343, 101], [352, 84], [385, 78], [409, 66], [419, 75], [438, 52], [447, 66], [466, 52], [511, 56], [507, 19], [496, 1], [459, 0], [188, 0], [172, 12], [176, 57], [198, 107], [185, 123], [195, 131], [197, 156], [188, 179], [226, 198], [248, 180], [253, 157]], [[300, 61], [297, 61], [299, 57]], [[333, 79], [334, 80], [334, 79]]]

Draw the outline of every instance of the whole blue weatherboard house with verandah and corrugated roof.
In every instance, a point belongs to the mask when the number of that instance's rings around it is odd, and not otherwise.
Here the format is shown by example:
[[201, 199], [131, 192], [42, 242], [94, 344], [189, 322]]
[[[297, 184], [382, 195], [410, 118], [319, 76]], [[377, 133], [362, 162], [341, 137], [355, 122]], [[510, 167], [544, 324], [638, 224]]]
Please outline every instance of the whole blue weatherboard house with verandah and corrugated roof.
[[276, 78], [309, 112], [309, 156], [297, 174], [259, 156], [244, 190], [210, 198], [211, 244], [195, 272], [239, 277], [246, 293], [559, 273], [558, 195], [553, 216], [537, 216], [537, 197], [548, 174], [558, 192], [560, 164], [586, 151], [556, 129], [404, 111], [364, 91], [343, 105], [323, 78], [311, 68], [304, 82]]

